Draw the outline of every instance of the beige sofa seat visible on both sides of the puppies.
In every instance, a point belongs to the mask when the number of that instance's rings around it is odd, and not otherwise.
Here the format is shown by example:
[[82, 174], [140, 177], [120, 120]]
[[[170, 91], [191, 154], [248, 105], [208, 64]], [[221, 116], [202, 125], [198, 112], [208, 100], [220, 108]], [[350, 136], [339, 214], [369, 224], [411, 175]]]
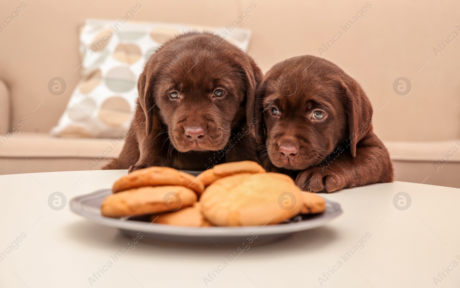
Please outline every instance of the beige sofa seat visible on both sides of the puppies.
[[[123, 144], [123, 138], [62, 138], [23, 131], [10, 138], [0, 136], [0, 175], [102, 169], [119, 155]], [[460, 188], [460, 151], [454, 152], [460, 144], [456, 140], [385, 141], [385, 145], [396, 181]]]

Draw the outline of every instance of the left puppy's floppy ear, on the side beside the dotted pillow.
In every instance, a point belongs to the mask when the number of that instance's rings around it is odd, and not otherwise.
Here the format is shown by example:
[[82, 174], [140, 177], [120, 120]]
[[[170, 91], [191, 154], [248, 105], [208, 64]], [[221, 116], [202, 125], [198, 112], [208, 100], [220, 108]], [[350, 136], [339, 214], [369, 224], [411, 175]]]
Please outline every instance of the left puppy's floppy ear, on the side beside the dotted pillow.
[[[139, 104], [145, 114], [145, 134], [147, 136], [152, 132], [152, 119], [154, 111], [154, 78], [152, 69], [147, 68], [149, 62], [146, 63], [144, 71], [138, 79], [138, 94]], [[155, 109], [156, 110], [156, 109]]]

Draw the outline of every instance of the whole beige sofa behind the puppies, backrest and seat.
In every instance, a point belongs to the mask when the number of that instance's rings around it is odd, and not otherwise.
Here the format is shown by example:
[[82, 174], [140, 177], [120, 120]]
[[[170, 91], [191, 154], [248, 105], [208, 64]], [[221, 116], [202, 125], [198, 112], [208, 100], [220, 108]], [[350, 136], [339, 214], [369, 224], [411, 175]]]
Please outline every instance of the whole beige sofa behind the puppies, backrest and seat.
[[[248, 53], [264, 72], [302, 54], [337, 63], [358, 79], [373, 103], [374, 127], [390, 150], [396, 180], [460, 187], [460, 153], [452, 152], [454, 146], [460, 149], [455, 142], [460, 139], [455, 48], [460, 40], [444, 42], [442, 51], [438, 46], [453, 31], [460, 33], [454, 21], [460, 2], [391, 0], [366, 6], [357, 0], [261, 0], [242, 14], [251, 2], [155, 0], [142, 3], [133, 21], [229, 26], [242, 19], [238, 25], [253, 32]], [[16, 6], [2, 3], [0, 10]], [[0, 174], [100, 169], [120, 152], [122, 145], [114, 147], [110, 139], [55, 138], [48, 132], [80, 79], [79, 26], [85, 18], [120, 19], [131, 6], [122, 0], [27, 2], [19, 19], [0, 29]], [[56, 76], [68, 85], [62, 96], [47, 90]], [[412, 85], [407, 96], [393, 88], [402, 76]], [[115, 151], [104, 159], [108, 146]]]

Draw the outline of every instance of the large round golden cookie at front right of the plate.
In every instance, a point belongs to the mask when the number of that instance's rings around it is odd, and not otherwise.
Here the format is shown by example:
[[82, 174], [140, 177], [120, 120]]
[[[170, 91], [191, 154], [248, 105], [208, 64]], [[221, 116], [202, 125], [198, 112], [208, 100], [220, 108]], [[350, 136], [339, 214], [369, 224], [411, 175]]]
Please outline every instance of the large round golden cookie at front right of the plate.
[[262, 226], [290, 219], [304, 207], [298, 186], [279, 173], [236, 174], [214, 181], [200, 198], [216, 226]]

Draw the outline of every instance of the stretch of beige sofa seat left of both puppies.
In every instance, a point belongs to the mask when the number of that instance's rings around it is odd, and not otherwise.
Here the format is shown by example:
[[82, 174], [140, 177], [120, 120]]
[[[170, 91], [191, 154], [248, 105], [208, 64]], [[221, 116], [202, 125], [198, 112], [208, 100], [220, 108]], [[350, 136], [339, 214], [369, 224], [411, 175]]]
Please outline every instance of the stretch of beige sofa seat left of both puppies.
[[[20, 132], [0, 136], [0, 175], [102, 169], [124, 139], [61, 138]], [[76, 181], [76, 180], [75, 180]]]

